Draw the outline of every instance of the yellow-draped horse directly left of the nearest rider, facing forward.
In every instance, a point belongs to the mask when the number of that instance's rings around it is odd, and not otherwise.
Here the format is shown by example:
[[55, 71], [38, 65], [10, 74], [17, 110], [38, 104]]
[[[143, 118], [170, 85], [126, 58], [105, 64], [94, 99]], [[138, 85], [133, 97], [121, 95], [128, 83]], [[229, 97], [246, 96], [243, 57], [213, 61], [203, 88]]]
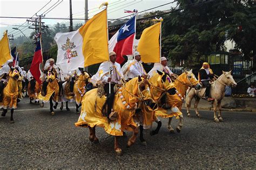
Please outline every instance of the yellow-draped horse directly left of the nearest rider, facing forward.
[[73, 93], [75, 94], [76, 100], [76, 112], [79, 113], [78, 108], [82, 105], [83, 96], [86, 93], [86, 85], [90, 75], [87, 72], [81, 72], [81, 74], [76, 77], [76, 82], [73, 88]]

